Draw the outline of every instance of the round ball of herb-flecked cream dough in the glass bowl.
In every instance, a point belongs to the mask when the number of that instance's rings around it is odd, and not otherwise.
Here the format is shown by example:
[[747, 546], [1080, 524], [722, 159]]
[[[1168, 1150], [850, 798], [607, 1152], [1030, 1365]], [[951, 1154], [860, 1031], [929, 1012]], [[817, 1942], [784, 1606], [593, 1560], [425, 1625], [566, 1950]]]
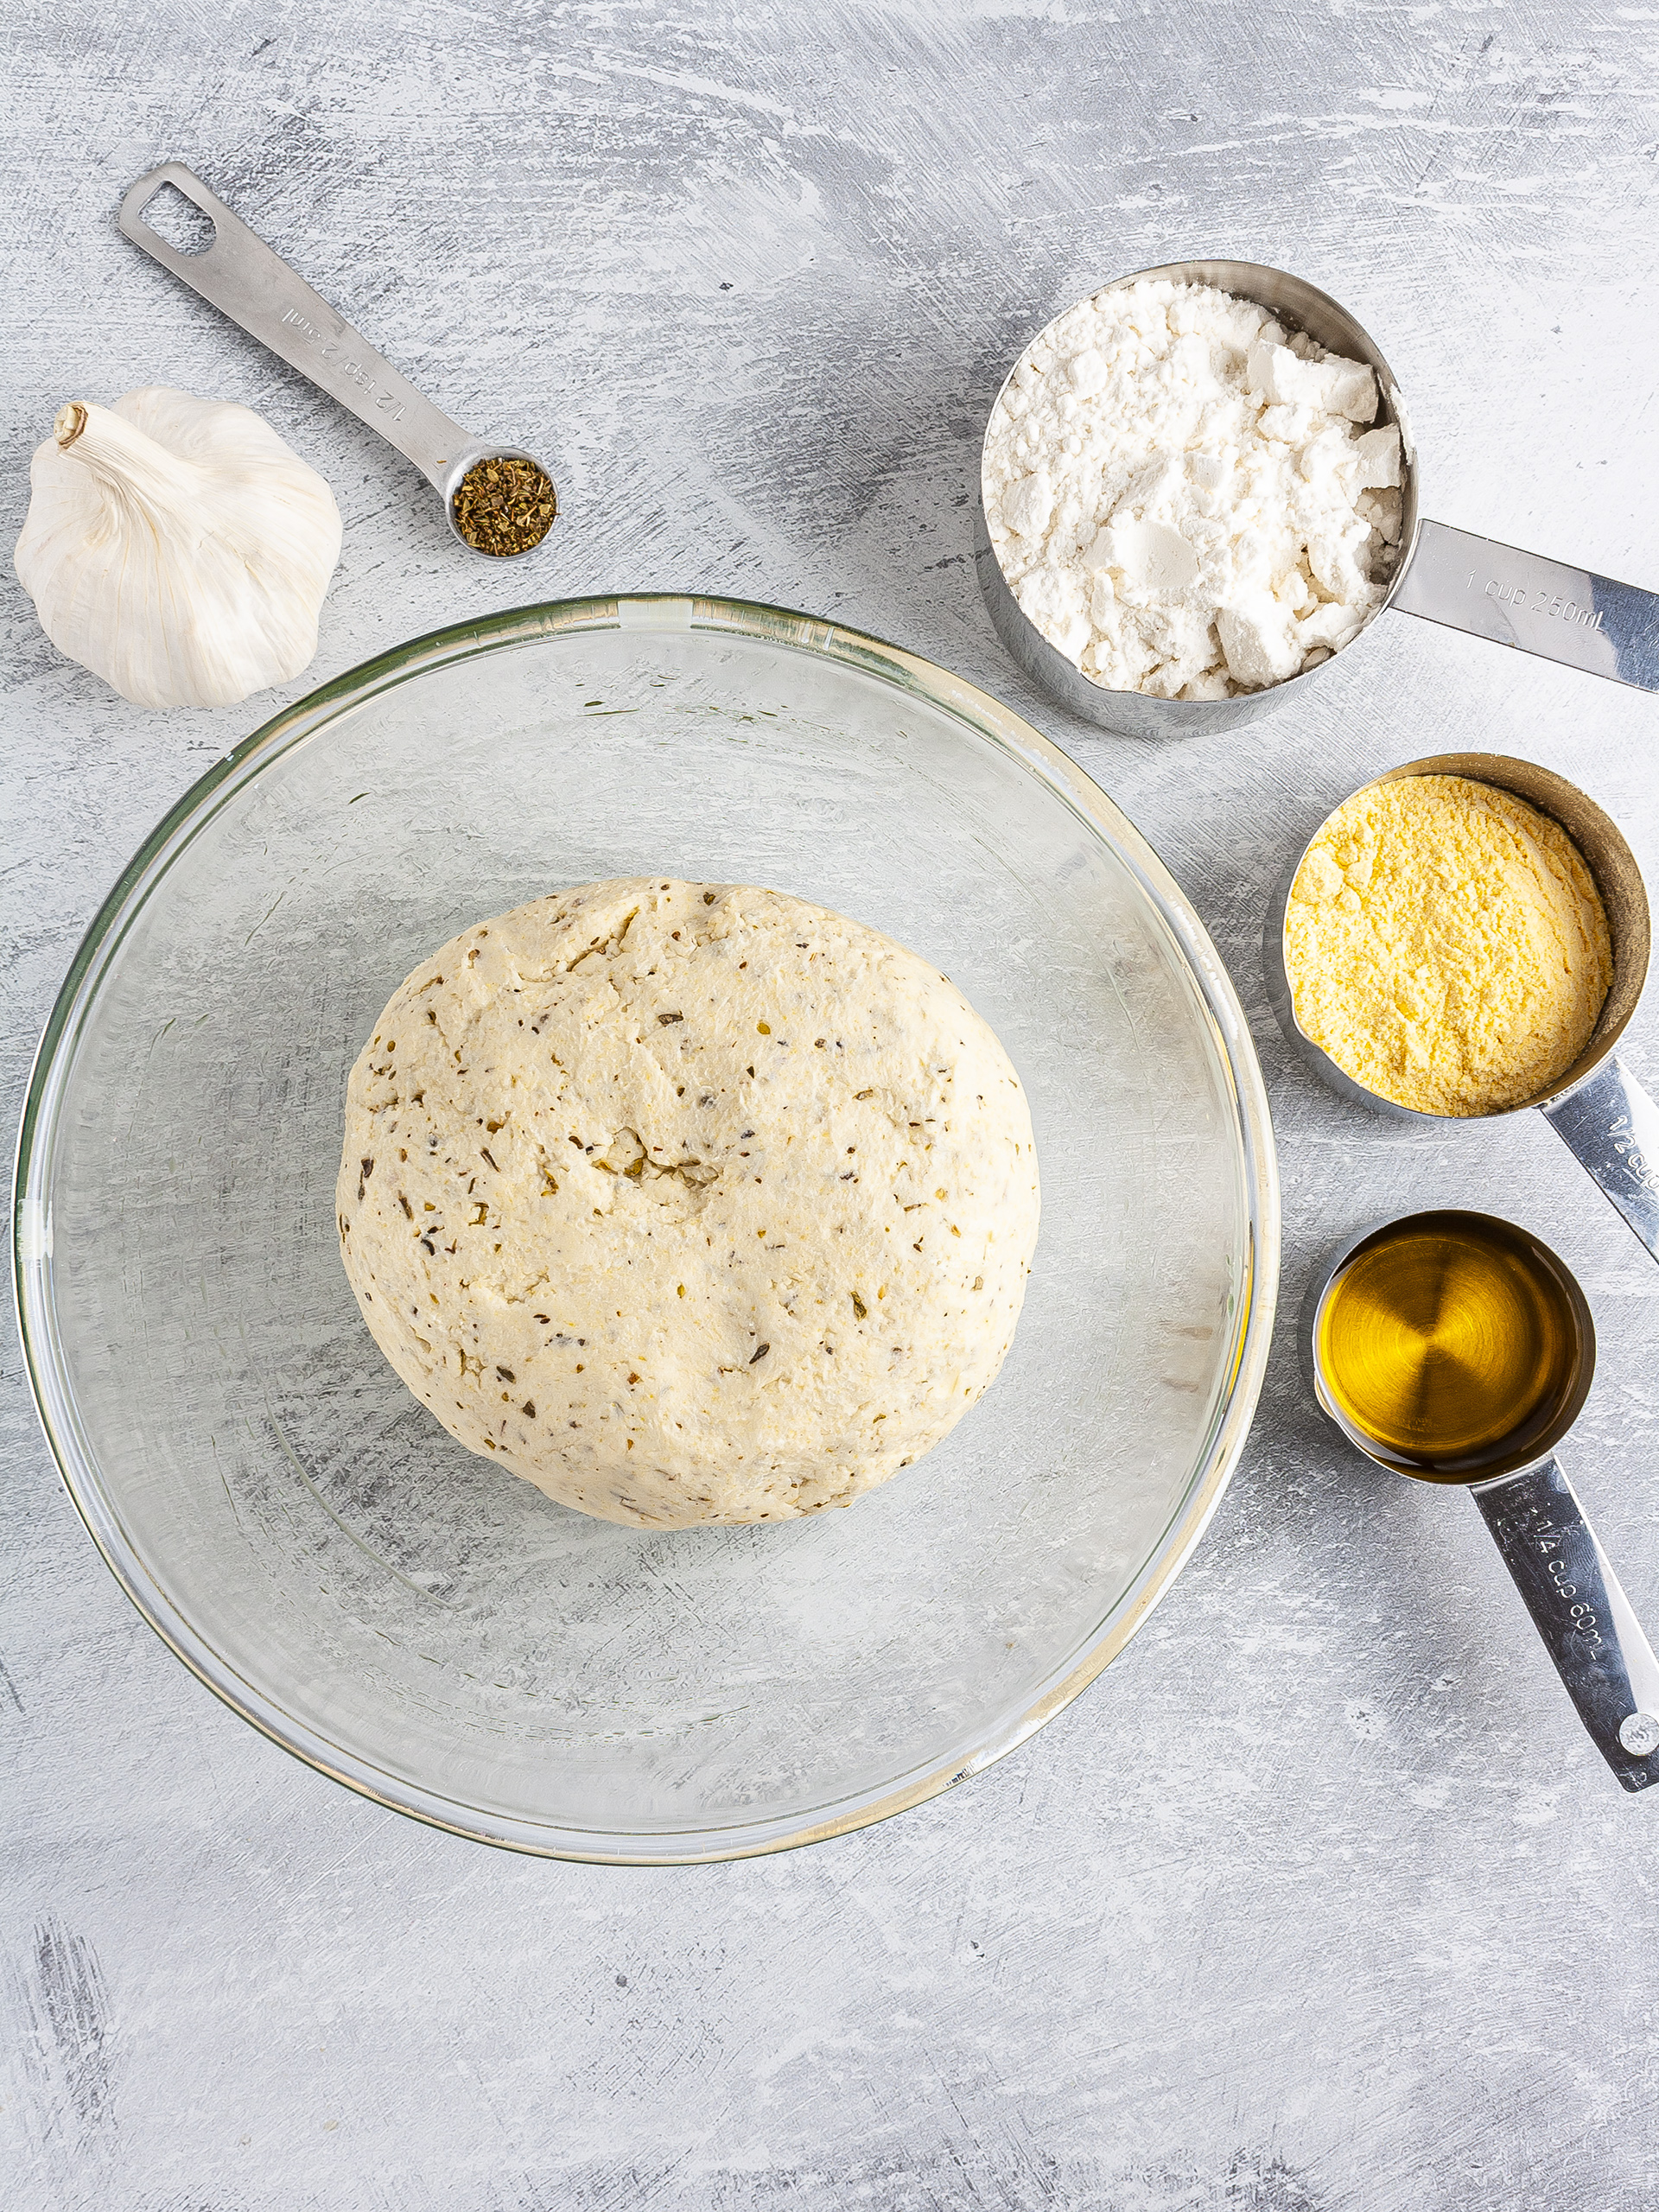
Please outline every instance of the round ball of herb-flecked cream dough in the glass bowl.
[[588, 883], [394, 993], [338, 1230], [471, 1451], [613, 1522], [787, 1520], [995, 1378], [1037, 1157], [1009, 1055], [902, 945], [745, 885]]

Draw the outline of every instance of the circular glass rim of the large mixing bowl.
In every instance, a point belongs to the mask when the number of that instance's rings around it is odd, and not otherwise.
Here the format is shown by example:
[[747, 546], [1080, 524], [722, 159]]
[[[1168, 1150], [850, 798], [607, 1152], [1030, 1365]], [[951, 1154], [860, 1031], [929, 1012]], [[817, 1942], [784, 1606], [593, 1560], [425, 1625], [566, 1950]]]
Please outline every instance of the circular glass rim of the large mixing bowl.
[[[1064, 1674], [1051, 1674], [1042, 1692], [1020, 1714], [1011, 1721], [998, 1721], [980, 1741], [949, 1761], [929, 1763], [927, 1772], [911, 1772], [852, 1792], [836, 1803], [814, 1807], [810, 1816], [737, 1818], [719, 1825], [622, 1834], [557, 1827], [546, 1820], [473, 1807], [385, 1772], [343, 1745], [330, 1743], [312, 1723], [288, 1712], [270, 1690], [237, 1674], [215, 1646], [192, 1628], [186, 1613], [126, 1542], [115, 1511], [104, 1500], [97, 1455], [80, 1427], [66, 1360], [55, 1334], [49, 1279], [51, 1166], [55, 1108], [86, 1018], [128, 927], [173, 860], [268, 765], [319, 734], [338, 712], [427, 670], [582, 630], [648, 635], [692, 628], [723, 630], [757, 644], [827, 657], [927, 699], [1013, 757], [1115, 849], [1175, 938], [1197, 984], [1232, 1093], [1248, 1219], [1241, 1281], [1232, 1296], [1230, 1363], [1203, 1451], [1161, 1540], [1128, 1588], [1104, 1613], [1086, 1648], [1073, 1657]], [[593, 1865], [703, 1865], [843, 1836], [938, 1796], [1024, 1743], [1124, 1650], [1210, 1524], [1250, 1433], [1267, 1367], [1279, 1292], [1279, 1166], [1267, 1091], [1250, 1024], [1203, 922], [1146, 838], [1068, 754], [964, 677], [841, 622], [763, 602], [701, 593], [608, 593], [504, 608], [392, 646], [281, 708], [215, 761], [168, 807], [126, 863], [80, 940], [35, 1051], [13, 1166], [11, 1287], [35, 1411], [75, 1511], [104, 1564], [148, 1626], [232, 1712], [239, 1712], [241, 1719], [305, 1765], [345, 1783], [361, 1796], [469, 1840]]]

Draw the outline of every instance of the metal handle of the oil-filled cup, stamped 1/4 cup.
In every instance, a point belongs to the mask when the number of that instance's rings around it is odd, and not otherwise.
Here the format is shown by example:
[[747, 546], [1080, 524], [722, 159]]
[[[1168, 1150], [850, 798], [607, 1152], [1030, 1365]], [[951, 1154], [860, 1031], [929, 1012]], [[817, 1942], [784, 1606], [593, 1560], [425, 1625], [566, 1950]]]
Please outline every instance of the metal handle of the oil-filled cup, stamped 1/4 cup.
[[1562, 1462], [1478, 1482], [1473, 1498], [1597, 1752], [1626, 1790], [1659, 1783], [1659, 1659]]

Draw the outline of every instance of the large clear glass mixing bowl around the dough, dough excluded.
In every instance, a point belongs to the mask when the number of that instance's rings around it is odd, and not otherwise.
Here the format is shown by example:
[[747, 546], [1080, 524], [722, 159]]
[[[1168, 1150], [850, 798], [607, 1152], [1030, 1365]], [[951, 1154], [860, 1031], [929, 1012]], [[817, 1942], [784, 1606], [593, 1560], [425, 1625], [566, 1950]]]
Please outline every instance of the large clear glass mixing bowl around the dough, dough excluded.
[[[398, 1383], [341, 1270], [345, 1075], [480, 916], [593, 876], [776, 885], [945, 969], [1031, 1097], [1002, 1378], [852, 1511], [639, 1533]], [[18, 1305], [146, 1619], [367, 1796], [568, 1858], [732, 1858], [978, 1772], [1121, 1650], [1239, 1458], [1279, 1194], [1197, 916], [969, 684], [723, 599], [533, 606], [265, 723], [155, 830], [46, 1026]]]

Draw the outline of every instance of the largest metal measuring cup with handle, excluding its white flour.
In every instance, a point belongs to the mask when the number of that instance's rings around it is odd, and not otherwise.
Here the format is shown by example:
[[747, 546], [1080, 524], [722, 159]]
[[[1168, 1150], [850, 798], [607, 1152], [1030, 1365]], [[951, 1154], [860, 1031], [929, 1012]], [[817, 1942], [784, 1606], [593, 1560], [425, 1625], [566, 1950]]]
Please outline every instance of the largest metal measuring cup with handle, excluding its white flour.
[[[1088, 296], [1121, 292], [1124, 285], [1146, 279], [1208, 283], [1219, 292], [1254, 301], [1285, 327], [1303, 330], [1327, 352], [1340, 354], [1345, 361], [1363, 361], [1376, 372], [1380, 394], [1376, 422], [1378, 427], [1391, 422], [1400, 431], [1400, 557], [1383, 604], [1334, 659], [1354, 653], [1378, 615], [1396, 606], [1405, 615], [1422, 615], [1427, 622], [1442, 622], [1447, 628], [1469, 630], [1473, 637], [1489, 637], [1500, 646], [1520, 646], [1522, 653], [1535, 653], [1546, 661], [1564, 661], [1568, 668], [1613, 677], [1637, 690], [1659, 690], [1657, 593], [1641, 591], [1637, 584], [1619, 584], [1615, 577], [1595, 575], [1588, 568], [1573, 568], [1568, 562], [1546, 560], [1542, 553], [1522, 553], [1493, 538], [1453, 531], [1444, 522], [1429, 522], [1418, 513], [1418, 451], [1411, 442], [1400, 387], [1376, 341], [1347, 307], [1301, 276], [1256, 261], [1168, 261], [1164, 268], [1115, 276]], [[1044, 327], [1048, 330], [1053, 323]], [[1020, 349], [1020, 361], [1029, 349], [1029, 345]], [[987, 445], [1002, 394], [1020, 361], [1002, 378], [991, 405]], [[984, 445], [980, 447], [975, 482], [973, 560], [995, 633], [1026, 675], [1062, 706], [1068, 706], [1073, 714], [1099, 723], [1102, 730], [1117, 730], [1121, 737], [1208, 737], [1217, 730], [1234, 730], [1239, 723], [1254, 721], [1256, 714], [1270, 714], [1292, 695], [1301, 695], [1332, 666], [1321, 661], [1318, 668], [1303, 668], [1301, 675], [1287, 677], [1283, 684], [1243, 692], [1237, 699], [1155, 699], [1148, 692], [1119, 692], [1095, 684], [1057, 646], [1048, 644], [1022, 611], [1002, 573], [984, 518]]]

